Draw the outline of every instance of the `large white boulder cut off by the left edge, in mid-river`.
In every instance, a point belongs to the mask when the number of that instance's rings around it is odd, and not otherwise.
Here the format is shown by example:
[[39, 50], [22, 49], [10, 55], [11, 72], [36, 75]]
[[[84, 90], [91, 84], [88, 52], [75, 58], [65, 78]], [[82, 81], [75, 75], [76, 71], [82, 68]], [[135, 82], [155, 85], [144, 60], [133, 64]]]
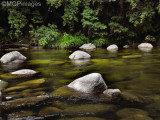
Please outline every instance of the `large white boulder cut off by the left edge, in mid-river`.
[[17, 60], [26, 60], [27, 58], [25, 56], [23, 56], [20, 52], [18, 51], [13, 51], [13, 52], [9, 52], [5, 55], [3, 55], [0, 59], [0, 61], [2, 63], [10, 63], [10, 62], [13, 62], [13, 61], [17, 61]]

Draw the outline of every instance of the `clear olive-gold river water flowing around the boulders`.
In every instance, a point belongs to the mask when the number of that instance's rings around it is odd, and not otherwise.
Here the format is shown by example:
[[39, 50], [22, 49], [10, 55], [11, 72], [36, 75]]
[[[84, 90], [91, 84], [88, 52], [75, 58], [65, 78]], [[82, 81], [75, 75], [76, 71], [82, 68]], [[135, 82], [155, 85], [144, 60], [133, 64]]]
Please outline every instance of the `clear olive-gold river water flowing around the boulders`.
[[[98, 118], [102, 120], [160, 119], [160, 48], [153, 49], [151, 53], [143, 53], [138, 49], [126, 49], [120, 50], [118, 53], [109, 53], [106, 49], [97, 49], [89, 52], [92, 56], [90, 60], [81, 63], [68, 59], [72, 52], [69, 50], [21, 51], [28, 58], [22, 65], [6, 66], [1, 64], [1, 75], [24, 68], [40, 72], [37, 76], [31, 78], [5, 80], [9, 83], [7, 88], [15, 87], [19, 83], [29, 80], [45, 79], [43, 84], [3, 92], [3, 101], [7, 101], [6, 97], [8, 96], [14, 96], [12, 98], [14, 100], [38, 95], [50, 95], [54, 90], [69, 84], [74, 79], [93, 72], [101, 73], [109, 88], [120, 89], [125, 99], [107, 102], [100, 100], [97, 96], [91, 99], [78, 100], [74, 98], [66, 99], [66, 97], [61, 96], [31, 107], [2, 110], [2, 118], [11, 119], [32, 116], [23, 119], [56, 120], [76, 117], [81, 118], [76, 118], [75, 120], [98, 120]], [[4, 53], [0, 52], [0, 56]], [[105, 105], [113, 105], [113, 108], [106, 110], [107, 107]], [[82, 108], [78, 108], [78, 106], [82, 106]], [[44, 109], [48, 107], [56, 107], [61, 111], [55, 114], [57, 110], [50, 108], [46, 112]], [[132, 112], [126, 112], [131, 108], [134, 108], [131, 110]], [[125, 109], [127, 110], [125, 111]], [[142, 112], [138, 110], [142, 110]], [[46, 114], [49, 111], [54, 111], [54, 116], [47, 116]], [[143, 114], [144, 112], [146, 113]], [[124, 113], [127, 115], [124, 115]], [[46, 117], [44, 118], [45, 115]]]

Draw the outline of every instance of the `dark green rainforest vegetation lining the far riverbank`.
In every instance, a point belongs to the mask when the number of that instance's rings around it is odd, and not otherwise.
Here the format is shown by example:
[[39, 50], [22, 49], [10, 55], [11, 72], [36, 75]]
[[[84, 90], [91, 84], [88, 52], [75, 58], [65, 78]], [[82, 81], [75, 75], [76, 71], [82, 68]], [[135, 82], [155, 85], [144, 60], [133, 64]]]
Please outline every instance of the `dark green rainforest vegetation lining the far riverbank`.
[[[25, 1], [25, 0], [21, 0]], [[27, 0], [28, 2], [28, 0]], [[0, 6], [0, 44], [69, 48], [160, 39], [159, 0], [30, 0], [41, 6]]]

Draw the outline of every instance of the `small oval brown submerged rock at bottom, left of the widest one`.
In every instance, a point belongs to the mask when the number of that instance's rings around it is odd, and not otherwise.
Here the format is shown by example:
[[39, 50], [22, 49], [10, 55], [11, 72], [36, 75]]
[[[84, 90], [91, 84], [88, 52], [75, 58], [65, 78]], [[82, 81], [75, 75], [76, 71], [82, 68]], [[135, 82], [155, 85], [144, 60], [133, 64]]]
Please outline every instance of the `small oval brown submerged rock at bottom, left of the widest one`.
[[40, 117], [48, 117], [48, 116], [55, 116], [61, 114], [63, 111], [56, 107], [45, 107], [40, 110], [38, 116]]

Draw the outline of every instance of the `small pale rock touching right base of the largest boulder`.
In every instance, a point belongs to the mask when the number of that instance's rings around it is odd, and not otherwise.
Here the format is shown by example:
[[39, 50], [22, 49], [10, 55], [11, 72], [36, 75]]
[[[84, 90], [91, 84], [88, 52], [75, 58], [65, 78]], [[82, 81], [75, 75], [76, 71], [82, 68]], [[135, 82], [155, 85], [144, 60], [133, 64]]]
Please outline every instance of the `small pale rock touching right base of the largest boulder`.
[[119, 89], [107, 89], [107, 90], [103, 91], [103, 94], [105, 94], [109, 97], [113, 97], [113, 96], [120, 95], [121, 91]]

